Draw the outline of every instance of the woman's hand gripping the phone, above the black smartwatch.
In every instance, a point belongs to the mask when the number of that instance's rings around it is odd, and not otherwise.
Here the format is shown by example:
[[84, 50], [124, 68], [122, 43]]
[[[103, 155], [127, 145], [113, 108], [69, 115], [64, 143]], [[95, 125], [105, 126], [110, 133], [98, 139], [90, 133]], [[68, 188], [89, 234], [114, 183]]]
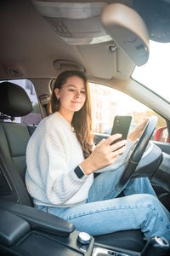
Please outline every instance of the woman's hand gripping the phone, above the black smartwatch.
[[124, 152], [127, 143], [126, 140], [122, 140], [111, 145], [111, 143], [120, 137], [122, 137], [121, 134], [114, 134], [107, 139], [101, 140], [97, 144], [92, 154], [80, 164], [86, 175], [104, 168], [105, 166], [110, 166], [116, 161], [117, 156]]

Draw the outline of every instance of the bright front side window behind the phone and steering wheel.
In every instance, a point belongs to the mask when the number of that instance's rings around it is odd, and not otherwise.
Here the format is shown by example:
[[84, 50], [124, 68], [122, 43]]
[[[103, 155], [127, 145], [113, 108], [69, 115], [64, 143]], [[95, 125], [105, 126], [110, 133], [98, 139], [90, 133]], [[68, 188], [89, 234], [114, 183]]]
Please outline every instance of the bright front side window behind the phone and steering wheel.
[[[131, 115], [133, 117], [130, 131], [142, 121], [145, 116], [156, 115], [158, 117], [156, 131], [164, 127], [163, 142], [167, 142], [166, 121], [144, 104], [134, 100], [121, 91], [100, 85], [90, 84], [92, 101], [93, 132], [111, 134], [113, 120], [116, 115]], [[162, 141], [162, 137], [156, 137], [156, 131], [152, 139]], [[158, 133], [158, 132], [157, 132]]]

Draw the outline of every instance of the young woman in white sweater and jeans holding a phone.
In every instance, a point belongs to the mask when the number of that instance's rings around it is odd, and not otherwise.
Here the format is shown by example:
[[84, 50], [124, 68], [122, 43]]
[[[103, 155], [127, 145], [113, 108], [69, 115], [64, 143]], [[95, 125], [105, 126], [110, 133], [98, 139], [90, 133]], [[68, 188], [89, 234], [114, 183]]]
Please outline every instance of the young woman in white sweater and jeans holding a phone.
[[[26, 187], [35, 207], [91, 236], [141, 229], [147, 239], [163, 236], [170, 242], [170, 214], [147, 178], [131, 180], [125, 196], [116, 198], [116, 182], [147, 120], [127, 141], [111, 145], [121, 137], [116, 134], [94, 148], [88, 80], [79, 71], [59, 74], [49, 103], [51, 114], [37, 126], [26, 150]], [[96, 171], [103, 173], [94, 179]]]

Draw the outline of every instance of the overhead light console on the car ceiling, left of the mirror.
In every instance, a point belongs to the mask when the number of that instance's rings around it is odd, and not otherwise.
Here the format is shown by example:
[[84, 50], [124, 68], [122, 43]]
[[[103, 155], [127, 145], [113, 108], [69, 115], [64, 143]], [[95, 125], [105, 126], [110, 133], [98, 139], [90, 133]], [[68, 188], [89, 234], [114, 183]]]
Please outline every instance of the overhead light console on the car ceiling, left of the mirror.
[[105, 2], [54, 3], [33, 1], [37, 11], [67, 44], [98, 44], [111, 41], [100, 22]]

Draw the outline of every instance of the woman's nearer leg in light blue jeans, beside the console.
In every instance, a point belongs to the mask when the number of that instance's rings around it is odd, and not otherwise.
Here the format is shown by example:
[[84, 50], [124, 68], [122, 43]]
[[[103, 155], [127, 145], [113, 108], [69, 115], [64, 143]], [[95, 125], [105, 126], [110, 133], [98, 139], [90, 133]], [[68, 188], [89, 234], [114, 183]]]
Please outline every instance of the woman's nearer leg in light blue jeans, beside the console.
[[147, 239], [162, 236], [170, 242], [170, 214], [165, 214], [153, 195], [129, 195], [70, 208], [49, 207], [48, 212], [91, 236], [141, 229]]

